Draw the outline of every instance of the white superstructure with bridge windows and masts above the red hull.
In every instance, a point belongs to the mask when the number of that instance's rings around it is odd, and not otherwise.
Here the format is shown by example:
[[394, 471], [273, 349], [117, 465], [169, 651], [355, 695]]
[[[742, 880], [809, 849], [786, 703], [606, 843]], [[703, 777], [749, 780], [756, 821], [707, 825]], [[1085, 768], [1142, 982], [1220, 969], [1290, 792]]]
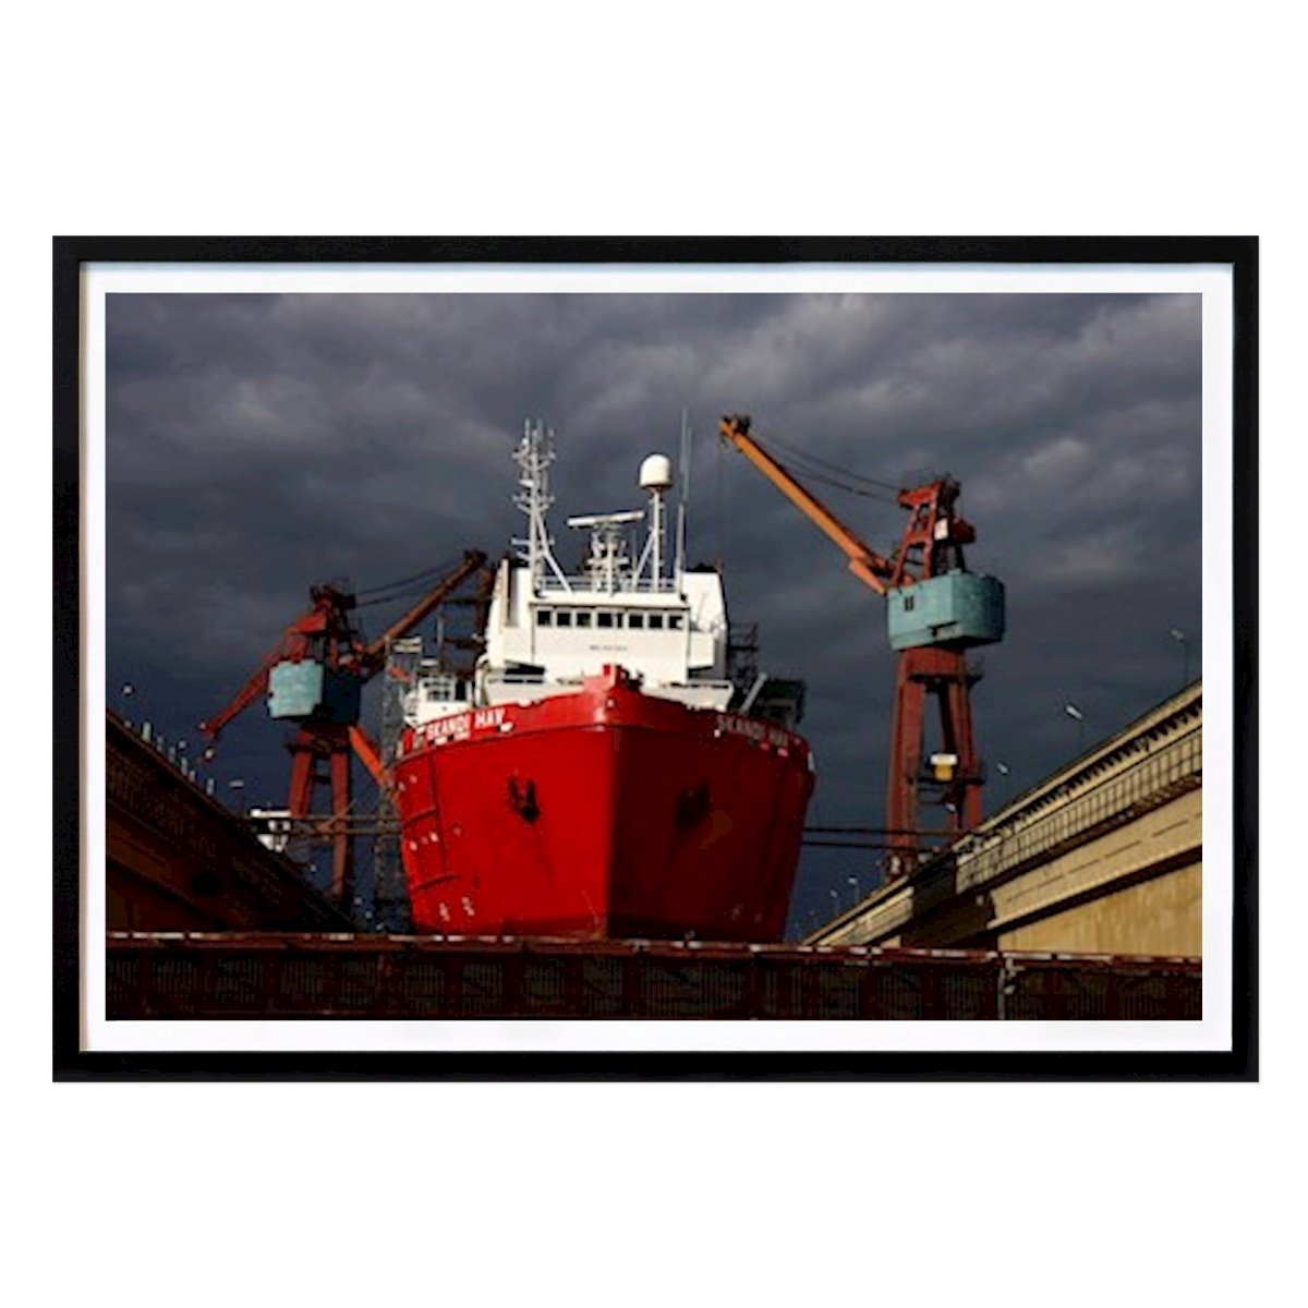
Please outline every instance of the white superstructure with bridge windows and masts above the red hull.
[[583, 557], [569, 573], [559, 564], [547, 522], [553, 459], [552, 433], [528, 422], [515, 454], [519, 492], [514, 498], [527, 518], [527, 534], [513, 542], [515, 556], [505, 559], [496, 574], [485, 651], [473, 681], [420, 676], [405, 706], [409, 723], [470, 705], [572, 693], [582, 678], [606, 663], [640, 676], [647, 695], [726, 709], [734, 685], [727, 679], [722, 578], [715, 570], [685, 569], [680, 521], [671, 566], [667, 561], [664, 497], [672, 487], [671, 460], [651, 454], [641, 464], [647, 510], [568, 519], [570, 528], [589, 532]]

